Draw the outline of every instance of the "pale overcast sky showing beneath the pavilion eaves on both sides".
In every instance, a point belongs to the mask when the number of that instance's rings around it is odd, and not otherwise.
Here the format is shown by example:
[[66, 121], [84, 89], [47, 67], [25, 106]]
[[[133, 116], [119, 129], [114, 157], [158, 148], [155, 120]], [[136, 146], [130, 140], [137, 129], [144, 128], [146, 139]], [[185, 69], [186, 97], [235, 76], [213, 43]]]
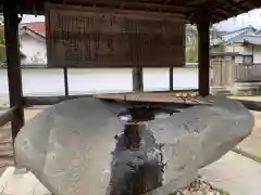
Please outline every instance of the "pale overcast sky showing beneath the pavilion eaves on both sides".
[[[45, 21], [44, 16], [34, 16], [34, 15], [24, 15], [23, 23], [29, 22], [42, 22]], [[256, 28], [261, 28], [261, 9], [252, 10], [248, 13], [238, 15], [237, 17], [229, 18], [220, 24], [216, 24], [216, 27], [221, 30], [234, 30], [246, 26], [253, 26]]]

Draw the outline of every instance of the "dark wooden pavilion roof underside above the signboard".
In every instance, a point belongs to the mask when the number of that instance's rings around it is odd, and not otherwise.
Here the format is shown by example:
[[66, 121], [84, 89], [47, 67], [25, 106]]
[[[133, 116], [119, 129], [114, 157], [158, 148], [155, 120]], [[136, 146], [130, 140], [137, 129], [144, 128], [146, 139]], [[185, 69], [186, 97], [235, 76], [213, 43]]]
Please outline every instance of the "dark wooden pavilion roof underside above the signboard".
[[[0, 0], [2, 2], [3, 0]], [[260, 0], [13, 0], [20, 12], [44, 14], [46, 2], [74, 5], [105, 6], [156, 12], [179, 12], [189, 22], [196, 21], [197, 13], [210, 14], [211, 23], [224, 21], [261, 6]]]

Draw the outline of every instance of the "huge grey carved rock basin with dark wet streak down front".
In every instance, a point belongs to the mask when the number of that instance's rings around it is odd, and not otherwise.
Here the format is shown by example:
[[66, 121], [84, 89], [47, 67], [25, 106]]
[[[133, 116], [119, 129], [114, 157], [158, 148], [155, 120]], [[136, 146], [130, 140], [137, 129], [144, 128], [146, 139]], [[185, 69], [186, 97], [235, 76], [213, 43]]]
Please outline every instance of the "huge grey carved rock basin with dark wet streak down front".
[[90, 98], [59, 103], [20, 131], [17, 165], [57, 195], [167, 195], [253, 128], [240, 103], [206, 100], [213, 105], [140, 123], [119, 118], [126, 109], [122, 104]]

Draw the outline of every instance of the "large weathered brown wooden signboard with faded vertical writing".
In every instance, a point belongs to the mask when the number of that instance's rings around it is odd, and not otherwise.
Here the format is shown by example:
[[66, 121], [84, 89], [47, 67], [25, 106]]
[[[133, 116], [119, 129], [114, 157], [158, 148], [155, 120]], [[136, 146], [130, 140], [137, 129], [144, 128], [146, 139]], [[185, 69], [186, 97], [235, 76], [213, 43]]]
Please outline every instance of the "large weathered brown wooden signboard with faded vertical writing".
[[46, 5], [50, 67], [169, 67], [185, 64], [185, 16]]

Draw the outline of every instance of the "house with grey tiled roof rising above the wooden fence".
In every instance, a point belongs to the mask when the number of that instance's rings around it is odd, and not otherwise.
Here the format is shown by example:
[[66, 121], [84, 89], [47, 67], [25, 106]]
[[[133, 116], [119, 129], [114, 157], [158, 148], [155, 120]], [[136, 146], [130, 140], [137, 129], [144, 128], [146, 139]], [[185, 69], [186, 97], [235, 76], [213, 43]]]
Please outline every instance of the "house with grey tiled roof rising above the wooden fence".
[[261, 64], [261, 30], [249, 26], [211, 40], [211, 53], [233, 52], [236, 64]]

